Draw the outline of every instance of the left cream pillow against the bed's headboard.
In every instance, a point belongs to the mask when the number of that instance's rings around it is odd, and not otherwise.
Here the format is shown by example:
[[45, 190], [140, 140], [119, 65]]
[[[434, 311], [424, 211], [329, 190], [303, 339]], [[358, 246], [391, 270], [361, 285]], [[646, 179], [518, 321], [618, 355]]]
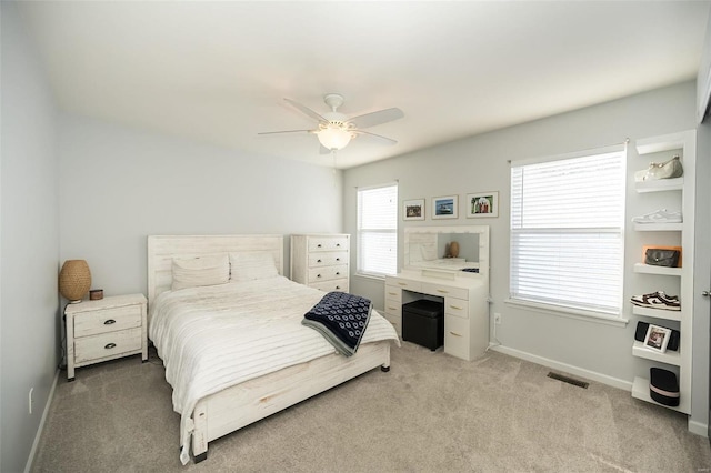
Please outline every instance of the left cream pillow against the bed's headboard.
[[230, 282], [230, 260], [224, 254], [173, 259], [172, 290]]

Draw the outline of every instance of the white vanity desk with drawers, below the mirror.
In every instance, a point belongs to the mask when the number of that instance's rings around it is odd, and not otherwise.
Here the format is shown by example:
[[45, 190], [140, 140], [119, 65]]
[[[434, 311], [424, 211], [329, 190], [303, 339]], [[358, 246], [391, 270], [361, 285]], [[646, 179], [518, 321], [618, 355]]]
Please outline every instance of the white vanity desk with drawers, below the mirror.
[[385, 278], [385, 318], [402, 336], [402, 304], [422, 294], [444, 301], [444, 353], [471, 361], [489, 346], [489, 278], [449, 279], [432, 271], [403, 271]]

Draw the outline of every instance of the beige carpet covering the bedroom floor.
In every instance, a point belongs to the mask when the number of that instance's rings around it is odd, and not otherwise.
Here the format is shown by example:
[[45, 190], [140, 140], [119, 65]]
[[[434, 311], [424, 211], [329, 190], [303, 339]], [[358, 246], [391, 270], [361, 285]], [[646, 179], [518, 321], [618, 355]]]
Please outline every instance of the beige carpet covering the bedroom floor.
[[[403, 343], [373, 370], [178, 459], [179, 416], [154, 353], [60, 380], [34, 472], [698, 472], [687, 417], [500, 353], [464, 362]], [[64, 373], [62, 373], [64, 374]]]

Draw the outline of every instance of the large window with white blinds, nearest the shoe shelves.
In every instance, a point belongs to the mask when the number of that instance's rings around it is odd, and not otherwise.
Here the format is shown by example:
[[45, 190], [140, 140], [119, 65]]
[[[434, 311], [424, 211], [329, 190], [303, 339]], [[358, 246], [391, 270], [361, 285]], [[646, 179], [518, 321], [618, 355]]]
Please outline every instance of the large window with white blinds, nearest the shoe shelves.
[[512, 163], [512, 302], [621, 316], [624, 162], [620, 145]]

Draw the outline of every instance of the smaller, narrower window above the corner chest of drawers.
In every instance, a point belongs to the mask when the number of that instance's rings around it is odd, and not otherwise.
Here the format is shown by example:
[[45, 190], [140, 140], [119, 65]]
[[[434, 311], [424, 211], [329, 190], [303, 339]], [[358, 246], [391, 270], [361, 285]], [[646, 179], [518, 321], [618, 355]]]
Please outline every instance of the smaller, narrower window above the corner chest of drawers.
[[398, 184], [358, 190], [358, 273], [398, 272]]

